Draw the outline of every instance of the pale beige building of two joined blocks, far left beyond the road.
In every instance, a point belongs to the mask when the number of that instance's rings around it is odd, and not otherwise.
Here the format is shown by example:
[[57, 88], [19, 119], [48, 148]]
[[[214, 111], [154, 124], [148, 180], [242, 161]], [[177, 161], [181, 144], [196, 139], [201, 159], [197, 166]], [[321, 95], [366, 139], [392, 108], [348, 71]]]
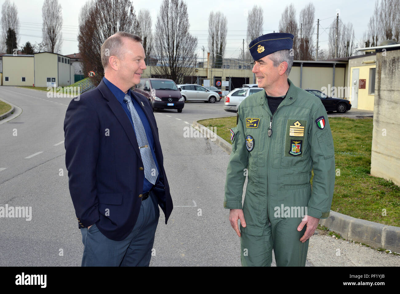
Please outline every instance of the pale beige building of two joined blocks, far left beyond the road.
[[71, 83], [74, 68], [70, 64], [70, 58], [56, 53], [4, 54], [2, 70], [4, 86], [58, 87], [74, 83]]

